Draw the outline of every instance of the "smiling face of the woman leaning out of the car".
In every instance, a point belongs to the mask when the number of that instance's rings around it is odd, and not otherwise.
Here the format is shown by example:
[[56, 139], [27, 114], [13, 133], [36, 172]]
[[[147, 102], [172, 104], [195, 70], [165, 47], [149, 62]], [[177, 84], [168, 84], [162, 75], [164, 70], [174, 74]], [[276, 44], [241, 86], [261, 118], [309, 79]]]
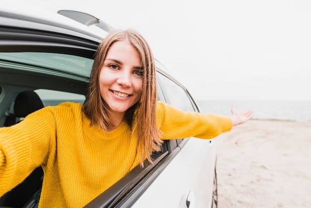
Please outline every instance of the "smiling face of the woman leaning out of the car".
[[140, 100], [142, 73], [136, 49], [127, 40], [113, 43], [99, 74], [100, 96], [110, 118], [123, 119], [126, 110]]

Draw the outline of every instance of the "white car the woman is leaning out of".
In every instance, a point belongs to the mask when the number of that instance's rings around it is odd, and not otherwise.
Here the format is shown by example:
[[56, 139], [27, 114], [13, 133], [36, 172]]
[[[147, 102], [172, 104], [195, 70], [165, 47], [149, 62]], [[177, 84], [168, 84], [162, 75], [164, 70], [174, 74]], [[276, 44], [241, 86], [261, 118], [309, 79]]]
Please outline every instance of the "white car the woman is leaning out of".
[[[93, 55], [113, 28], [77, 11], [0, 7], [0, 126], [65, 101], [83, 103]], [[199, 111], [179, 82], [157, 62], [158, 99]], [[86, 208], [217, 207], [215, 140], [167, 140], [155, 165], [136, 167]], [[25, 182], [0, 197], [0, 207], [36, 207], [43, 178], [38, 167]]]

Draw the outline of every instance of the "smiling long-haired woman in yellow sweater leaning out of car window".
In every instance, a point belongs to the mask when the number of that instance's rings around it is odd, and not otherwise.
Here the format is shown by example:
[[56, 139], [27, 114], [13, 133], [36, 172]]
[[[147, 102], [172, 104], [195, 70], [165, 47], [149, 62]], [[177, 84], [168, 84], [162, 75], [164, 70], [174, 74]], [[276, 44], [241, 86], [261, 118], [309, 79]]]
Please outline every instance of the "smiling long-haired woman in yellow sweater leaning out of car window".
[[234, 108], [229, 117], [157, 102], [148, 43], [136, 31], [115, 31], [96, 52], [85, 104], [48, 106], [0, 128], [0, 196], [42, 166], [39, 207], [82, 207], [152, 162], [163, 139], [213, 138], [251, 117]]

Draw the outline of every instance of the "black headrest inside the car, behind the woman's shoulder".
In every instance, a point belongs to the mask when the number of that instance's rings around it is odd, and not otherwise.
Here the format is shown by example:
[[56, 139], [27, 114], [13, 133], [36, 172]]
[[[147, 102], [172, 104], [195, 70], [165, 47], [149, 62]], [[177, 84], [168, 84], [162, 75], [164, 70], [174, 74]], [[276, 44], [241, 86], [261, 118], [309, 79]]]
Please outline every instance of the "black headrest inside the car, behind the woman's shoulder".
[[28, 114], [43, 108], [44, 105], [39, 96], [33, 91], [20, 92], [14, 103], [16, 117], [26, 117]]

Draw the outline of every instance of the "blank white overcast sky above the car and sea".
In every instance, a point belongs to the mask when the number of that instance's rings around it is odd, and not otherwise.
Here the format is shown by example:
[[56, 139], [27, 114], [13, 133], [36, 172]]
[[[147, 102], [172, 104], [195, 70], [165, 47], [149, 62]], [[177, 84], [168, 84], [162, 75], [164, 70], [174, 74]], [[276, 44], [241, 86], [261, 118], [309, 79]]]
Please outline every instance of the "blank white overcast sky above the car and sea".
[[23, 0], [132, 28], [196, 100], [311, 100], [310, 0]]

